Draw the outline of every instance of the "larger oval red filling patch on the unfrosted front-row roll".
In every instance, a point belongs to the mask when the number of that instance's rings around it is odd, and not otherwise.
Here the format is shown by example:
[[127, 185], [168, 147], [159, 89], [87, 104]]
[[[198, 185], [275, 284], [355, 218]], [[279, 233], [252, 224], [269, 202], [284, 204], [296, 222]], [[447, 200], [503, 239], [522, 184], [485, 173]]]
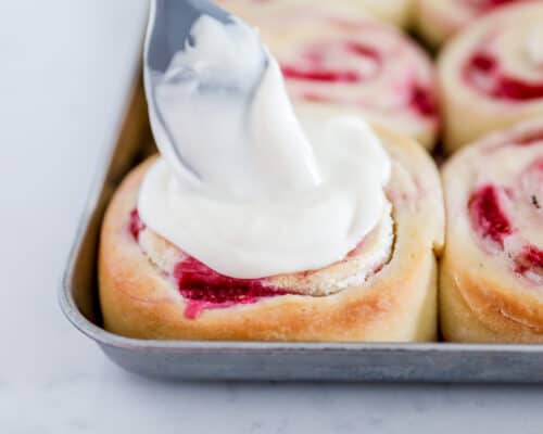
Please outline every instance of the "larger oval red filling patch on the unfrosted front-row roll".
[[469, 214], [472, 227], [483, 237], [503, 246], [503, 239], [513, 232], [512, 225], [500, 206], [497, 189], [487, 184], [479, 188], [469, 199]]

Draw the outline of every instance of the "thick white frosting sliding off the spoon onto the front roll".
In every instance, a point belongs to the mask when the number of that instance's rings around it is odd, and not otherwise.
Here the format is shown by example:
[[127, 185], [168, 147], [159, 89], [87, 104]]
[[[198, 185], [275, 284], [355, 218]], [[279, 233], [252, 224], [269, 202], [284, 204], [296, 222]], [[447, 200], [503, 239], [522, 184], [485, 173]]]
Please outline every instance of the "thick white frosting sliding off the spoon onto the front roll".
[[[277, 62], [262, 58], [258, 35], [240, 21], [204, 16], [191, 34], [156, 93], [185, 165], [159, 140], [163, 157], [144, 177], [141, 220], [226, 277], [342, 260], [390, 218], [390, 158], [379, 139], [359, 117], [299, 120]], [[248, 90], [249, 103], [238, 98]], [[392, 241], [383, 237], [387, 256]]]

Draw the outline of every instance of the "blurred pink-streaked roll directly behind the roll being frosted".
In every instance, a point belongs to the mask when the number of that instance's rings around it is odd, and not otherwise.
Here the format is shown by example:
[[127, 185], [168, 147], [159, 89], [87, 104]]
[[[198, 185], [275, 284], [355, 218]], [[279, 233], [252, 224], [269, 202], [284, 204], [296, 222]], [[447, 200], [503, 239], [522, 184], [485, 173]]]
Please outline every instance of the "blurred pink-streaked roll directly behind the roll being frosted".
[[260, 28], [303, 114], [361, 113], [433, 146], [439, 127], [433, 68], [405, 36], [368, 18], [353, 2], [241, 3], [230, 9]]

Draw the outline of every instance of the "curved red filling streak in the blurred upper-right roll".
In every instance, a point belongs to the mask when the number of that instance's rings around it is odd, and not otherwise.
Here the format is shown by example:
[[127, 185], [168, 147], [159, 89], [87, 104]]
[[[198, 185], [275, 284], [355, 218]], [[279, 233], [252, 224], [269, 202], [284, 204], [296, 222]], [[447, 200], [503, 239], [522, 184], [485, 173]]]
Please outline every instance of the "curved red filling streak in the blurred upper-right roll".
[[543, 80], [527, 81], [502, 73], [498, 60], [484, 51], [467, 60], [463, 75], [470, 86], [497, 100], [523, 102], [543, 98]]

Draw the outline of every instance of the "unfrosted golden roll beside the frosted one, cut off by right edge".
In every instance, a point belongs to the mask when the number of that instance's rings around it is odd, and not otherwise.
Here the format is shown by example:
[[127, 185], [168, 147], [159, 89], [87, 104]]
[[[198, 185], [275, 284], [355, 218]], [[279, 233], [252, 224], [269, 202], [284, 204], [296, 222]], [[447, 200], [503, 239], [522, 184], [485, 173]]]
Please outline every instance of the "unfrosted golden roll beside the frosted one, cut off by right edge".
[[443, 169], [443, 335], [543, 342], [543, 122], [493, 133]]

